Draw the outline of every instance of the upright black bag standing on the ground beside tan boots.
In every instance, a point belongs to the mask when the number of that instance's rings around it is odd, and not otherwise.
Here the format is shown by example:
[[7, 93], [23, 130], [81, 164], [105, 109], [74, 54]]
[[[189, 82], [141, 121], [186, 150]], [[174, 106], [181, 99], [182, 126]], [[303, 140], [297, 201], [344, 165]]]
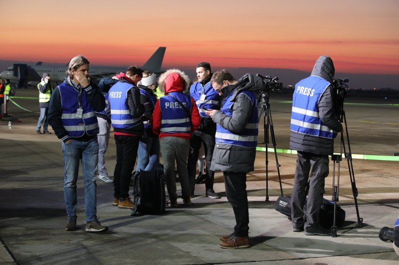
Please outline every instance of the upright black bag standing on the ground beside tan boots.
[[164, 171], [141, 171], [135, 174], [133, 202], [136, 212], [142, 214], [161, 214], [165, 212], [165, 176]]

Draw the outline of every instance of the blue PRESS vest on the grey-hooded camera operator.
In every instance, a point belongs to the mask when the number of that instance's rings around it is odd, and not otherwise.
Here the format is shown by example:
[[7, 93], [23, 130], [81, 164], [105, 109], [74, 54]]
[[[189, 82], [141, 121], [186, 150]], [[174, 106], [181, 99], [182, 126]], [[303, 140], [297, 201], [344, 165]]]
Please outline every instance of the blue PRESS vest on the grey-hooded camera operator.
[[329, 139], [337, 136], [319, 117], [320, 97], [330, 85], [330, 82], [317, 76], [305, 78], [295, 85], [291, 131]]

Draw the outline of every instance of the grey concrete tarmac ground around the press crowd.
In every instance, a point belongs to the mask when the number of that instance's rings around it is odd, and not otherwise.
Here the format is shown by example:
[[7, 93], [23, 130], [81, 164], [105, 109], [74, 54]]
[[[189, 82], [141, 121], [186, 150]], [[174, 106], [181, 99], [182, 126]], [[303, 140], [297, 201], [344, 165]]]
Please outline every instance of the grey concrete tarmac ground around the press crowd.
[[[8, 112], [21, 122], [12, 122], [7, 129], [7, 118], [0, 121], [0, 264], [399, 264], [392, 243], [381, 241], [378, 235], [382, 227], [393, 227], [398, 218], [398, 161], [353, 159], [362, 227], [357, 227], [348, 164], [342, 161], [339, 204], [346, 211], [346, 222], [336, 238], [292, 232], [287, 217], [274, 209], [280, 185], [273, 152], [268, 153], [269, 202], [265, 202], [266, 153], [257, 152], [255, 171], [247, 175], [248, 249], [218, 246], [219, 237], [230, 234], [235, 225], [220, 172], [214, 184], [220, 199], [205, 197], [204, 184], [198, 184], [192, 206], [184, 206], [179, 199], [179, 207], [167, 208], [163, 215], [134, 217], [130, 210], [112, 206], [113, 184], [97, 180], [97, 215], [109, 231], [88, 233], [80, 169], [79, 229], [67, 232], [61, 142], [54, 134], [35, 133], [39, 114], [27, 110], [39, 111], [37, 89], [16, 91], [16, 96], [27, 97], [13, 98], [26, 110], [10, 104]], [[290, 100], [290, 96], [270, 96], [277, 148], [281, 149], [289, 149]], [[391, 156], [399, 152], [399, 106], [394, 103], [348, 98], [345, 110], [353, 154]], [[263, 141], [262, 127], [260, 124], [259, 142]], [[336, 151], [339, 142], [336, 140]], [[290, 195], [296, 155], [277, 153], [277, 158], [283, 193]], [[106, 153], [111, 176], [115, 159], [111, 135]], [[332, 196], [333, 175], [330, 162], [327, 199]]]

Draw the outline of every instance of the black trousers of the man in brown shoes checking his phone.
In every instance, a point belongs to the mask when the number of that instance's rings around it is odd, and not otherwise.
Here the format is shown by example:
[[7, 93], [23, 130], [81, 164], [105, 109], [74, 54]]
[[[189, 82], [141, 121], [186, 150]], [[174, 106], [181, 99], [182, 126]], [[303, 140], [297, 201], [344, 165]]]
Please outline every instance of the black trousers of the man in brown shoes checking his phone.
[[246, 193], [246, 173], [231, 173], [223, 171], [226, 197], [233, 207], [235, 216], [234, 234], [248, 237], [248, 197]]

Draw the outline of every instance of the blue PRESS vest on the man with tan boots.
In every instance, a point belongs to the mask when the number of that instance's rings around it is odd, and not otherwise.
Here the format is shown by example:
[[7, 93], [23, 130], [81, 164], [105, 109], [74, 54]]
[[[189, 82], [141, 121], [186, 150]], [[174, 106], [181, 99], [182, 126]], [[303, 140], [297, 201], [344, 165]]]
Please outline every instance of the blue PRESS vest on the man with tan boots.
[[111, 125], [114, 128], [129, 129], [141, 123], [141, 117], [135, 118], [130, 114], [127, 104], [127, 94], [133, 85], [118, 82], [108, 91], [108, 102], [111, 104]]

